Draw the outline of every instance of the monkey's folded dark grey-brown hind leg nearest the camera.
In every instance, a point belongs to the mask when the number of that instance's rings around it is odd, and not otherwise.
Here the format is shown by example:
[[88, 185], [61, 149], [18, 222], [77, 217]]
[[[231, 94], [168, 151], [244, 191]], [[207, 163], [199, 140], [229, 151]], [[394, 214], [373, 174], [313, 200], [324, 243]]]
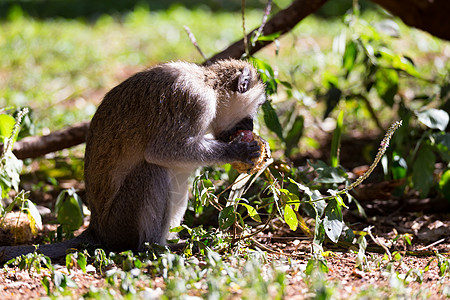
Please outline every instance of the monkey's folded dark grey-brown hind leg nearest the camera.
[[160, 243], [167, 218], [167, 169], [141, 162], [128, 173], [97, 235], [111, 250], [142, 250], [145, 242]]

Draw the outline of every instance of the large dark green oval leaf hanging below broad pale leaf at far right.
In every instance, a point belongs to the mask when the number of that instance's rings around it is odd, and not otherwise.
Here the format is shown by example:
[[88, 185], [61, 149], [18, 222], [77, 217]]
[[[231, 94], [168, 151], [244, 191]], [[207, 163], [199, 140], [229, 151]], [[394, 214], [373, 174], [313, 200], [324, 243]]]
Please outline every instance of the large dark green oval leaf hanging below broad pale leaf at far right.
[[436, 155], [430, 145], [423, 144], [413, 164], [413, 188], [420, 191], [420, 197], [426, 197], [433, 185], [434, 164]]

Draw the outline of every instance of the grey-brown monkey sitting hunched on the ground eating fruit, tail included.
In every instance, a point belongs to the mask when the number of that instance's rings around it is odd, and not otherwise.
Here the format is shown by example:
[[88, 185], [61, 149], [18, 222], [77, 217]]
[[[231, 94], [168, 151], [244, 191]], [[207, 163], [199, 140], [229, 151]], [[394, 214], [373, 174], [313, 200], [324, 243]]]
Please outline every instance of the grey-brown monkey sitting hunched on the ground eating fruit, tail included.
[[[243, 60], [208, 66], [167, 62], [138, 72], [104, 96], [86, 138], [85, 195], [91, 217], [78, 237], [39, 246], [63, 257], [81, 243], [111, 251], [142, 251], [164, 245], [182, 222], [189, 177], [201, 166], [234, 161], [253, 164], [253, 130], [266, 101], [255, 67]], [[34, 246], [0, 247], [2, 261], [35, 251]]]

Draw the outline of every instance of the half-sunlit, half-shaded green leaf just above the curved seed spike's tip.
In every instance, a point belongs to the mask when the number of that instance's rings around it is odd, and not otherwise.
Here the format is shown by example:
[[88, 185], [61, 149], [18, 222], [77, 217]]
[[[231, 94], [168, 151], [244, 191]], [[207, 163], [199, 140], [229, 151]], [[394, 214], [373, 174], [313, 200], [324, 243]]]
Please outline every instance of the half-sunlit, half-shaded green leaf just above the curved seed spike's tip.
[[398, 74], [392, 69], [380, 68], [375, 73], [375, 89], [384, 103], [392, 107], [398, 91]]

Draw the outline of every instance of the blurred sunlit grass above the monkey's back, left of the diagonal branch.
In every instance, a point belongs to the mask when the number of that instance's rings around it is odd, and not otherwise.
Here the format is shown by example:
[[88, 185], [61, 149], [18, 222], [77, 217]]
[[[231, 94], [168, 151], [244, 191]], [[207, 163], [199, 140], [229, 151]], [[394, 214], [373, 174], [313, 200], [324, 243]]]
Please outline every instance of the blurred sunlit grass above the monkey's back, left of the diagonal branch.
[[[255, 27], [259, 11], [249, 12]], [[170, 60], [201, 62], [183, 26], [206, 55], [242, 34], [240, 15], [176, 7], [136, 8], [122, 17], [45, 21], [20, 14], [0, 29], [0, 106], [31, 106], [38, 128], [88, 119], [103, 94], [131, 73]]]

